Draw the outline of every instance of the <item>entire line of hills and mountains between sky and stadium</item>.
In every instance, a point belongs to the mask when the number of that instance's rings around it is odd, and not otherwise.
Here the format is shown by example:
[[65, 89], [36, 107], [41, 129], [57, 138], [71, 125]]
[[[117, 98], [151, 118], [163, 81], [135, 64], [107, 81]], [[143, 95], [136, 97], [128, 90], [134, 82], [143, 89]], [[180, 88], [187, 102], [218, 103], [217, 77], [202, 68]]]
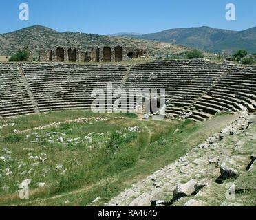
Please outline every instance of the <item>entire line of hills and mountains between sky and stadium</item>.
[[[209, 28], [176, 28], [152, 34], [122, 32], [111, 36], [81, 32], [57, 32], [51, 28], [34, 25], [14, 32], [0, 34], [0, 55], [10, 56], [21, 47], [30, 47], [37, 56], [41, 49], [57, 46], [77, 47], [81, 50], [92, 46], [142, 47], [149, 54], [180, 54], [191, 48], [206, 52], [231, 54], [238, 49], [256, 53], [256, 27], [243, 31]], [[209, 54], [209, 53], [208, 53]]]

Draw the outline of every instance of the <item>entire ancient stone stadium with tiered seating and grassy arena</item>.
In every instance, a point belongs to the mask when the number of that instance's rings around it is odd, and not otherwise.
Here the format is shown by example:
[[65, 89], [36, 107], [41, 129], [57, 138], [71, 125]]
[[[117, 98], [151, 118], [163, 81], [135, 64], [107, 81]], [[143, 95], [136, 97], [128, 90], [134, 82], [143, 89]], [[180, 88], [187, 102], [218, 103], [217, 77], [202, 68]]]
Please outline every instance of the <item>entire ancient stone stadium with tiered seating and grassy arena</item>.
[[[0, 63], [1, 206], [255, 206], [256, 66], [56, 62], [129, 52], [58, 47], [45, 62]], [[93, 113], [93, 90], [109, 83], [165, 89], [165, 118]]]

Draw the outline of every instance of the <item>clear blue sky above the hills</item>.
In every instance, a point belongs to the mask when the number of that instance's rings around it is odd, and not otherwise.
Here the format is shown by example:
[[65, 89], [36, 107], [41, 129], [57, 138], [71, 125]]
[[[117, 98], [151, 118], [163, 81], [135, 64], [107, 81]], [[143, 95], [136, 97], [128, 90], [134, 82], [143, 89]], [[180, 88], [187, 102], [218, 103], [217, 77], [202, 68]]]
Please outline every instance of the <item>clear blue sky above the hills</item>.
[[[19, 5], [29, 6], [29, 21], [19, 20]], [[226, 21], [226, 4], [236, 7], [236, 20]], [[209, 26], [245, 30], [256, 26], [255, 0], [2, 0], [0, 33], [31, 25], [58, 32], [94, 34], [152, 33], [170, 28]]]

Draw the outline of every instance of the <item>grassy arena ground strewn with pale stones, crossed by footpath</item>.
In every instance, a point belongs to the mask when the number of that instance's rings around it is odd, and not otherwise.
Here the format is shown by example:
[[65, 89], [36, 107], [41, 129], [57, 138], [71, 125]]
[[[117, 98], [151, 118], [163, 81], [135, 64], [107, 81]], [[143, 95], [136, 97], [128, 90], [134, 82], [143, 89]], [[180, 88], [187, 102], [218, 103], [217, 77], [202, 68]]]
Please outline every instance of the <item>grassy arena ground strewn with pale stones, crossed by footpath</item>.
[[[0, 126], [15, 124], [0, 129], [0, 156], [11, 156], [5, 161], [0, 159], [0, 206], [87, 206], [97, 197], [101, 199], [94, 205], [103, 205], [185, 155], [238, 116], [219, 115], [200, 124], [89, 111], [53, 111], [0, 119]], [[63, 123], [92, 117], [108, 120]], [[54, 122], [61, 125], [33, 130]], [[135, 126], [137, 130], [129, 131]], [[14, 135], [14, 129], [30, 131]], [[58, 140], [61, 133], [65, 144]], [[40, 162], [39, 157], [47, 159]], [[57, 170], [59, 164], [63, 166]], [[12, 173], [6, 175], [8, 172]], [[25, 179], [32, 179], [30, 198], [19, 199], [17, 190]], [[39, 183], [45, 186], [39, 187]], [[8, 190], [3, 190], [5, 186]], [[67, 200], [70, 203], [65, 203]]]

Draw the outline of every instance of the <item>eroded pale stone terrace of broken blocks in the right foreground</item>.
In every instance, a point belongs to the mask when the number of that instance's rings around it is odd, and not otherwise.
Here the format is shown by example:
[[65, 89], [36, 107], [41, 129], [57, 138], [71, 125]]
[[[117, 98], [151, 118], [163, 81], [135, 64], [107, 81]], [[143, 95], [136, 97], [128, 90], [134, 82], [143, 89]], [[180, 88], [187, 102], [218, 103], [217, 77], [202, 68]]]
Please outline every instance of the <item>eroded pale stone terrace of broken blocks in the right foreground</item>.
[[105, 206], [252, 206], [255, 122], [256, 115], [242, 115]]

